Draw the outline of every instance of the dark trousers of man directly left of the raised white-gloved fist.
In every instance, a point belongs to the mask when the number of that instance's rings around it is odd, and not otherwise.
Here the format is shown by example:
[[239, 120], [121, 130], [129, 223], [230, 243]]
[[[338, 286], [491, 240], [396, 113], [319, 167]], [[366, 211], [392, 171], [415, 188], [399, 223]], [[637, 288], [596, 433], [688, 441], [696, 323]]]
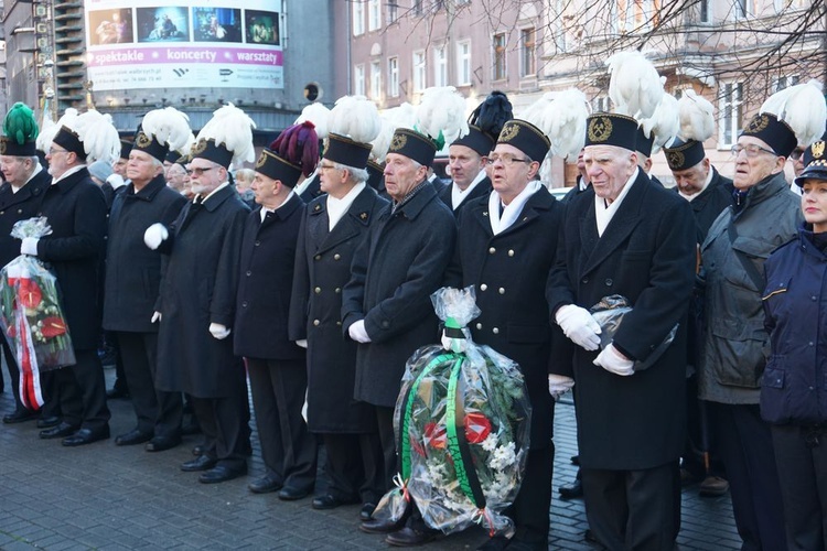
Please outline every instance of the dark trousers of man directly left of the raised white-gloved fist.
[[136, 428], [147, 434], [178, 439], [184, 401], [181, 392], [155, 389], [158, 333], [116, 332], [114, 335], [138, 419]]

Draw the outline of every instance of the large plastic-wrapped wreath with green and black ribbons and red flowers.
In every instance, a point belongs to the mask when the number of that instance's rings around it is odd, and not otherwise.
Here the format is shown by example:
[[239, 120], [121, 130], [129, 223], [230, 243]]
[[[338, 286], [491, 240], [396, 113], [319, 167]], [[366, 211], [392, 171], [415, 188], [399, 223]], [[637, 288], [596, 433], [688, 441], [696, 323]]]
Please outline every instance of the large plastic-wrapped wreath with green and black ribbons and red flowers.
[[517, 365], [471, 341], [480, 315], [473, 287], [431, 295], [444, 321], [443, 345], [408, 360], [394, 424], [400, 473], [374, 518], [400, 520], [410, 501], [431, 528], [477, 523], [511, 536], [503, 515], [517, 495], [529, 446], [530, 404]]

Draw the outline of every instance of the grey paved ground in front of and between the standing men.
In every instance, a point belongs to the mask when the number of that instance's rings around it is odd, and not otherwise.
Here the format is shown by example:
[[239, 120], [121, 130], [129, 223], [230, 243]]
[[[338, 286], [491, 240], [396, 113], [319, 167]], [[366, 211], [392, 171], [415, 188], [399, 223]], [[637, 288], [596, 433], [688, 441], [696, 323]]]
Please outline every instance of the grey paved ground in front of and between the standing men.
[[[112, 371], [107, 369], [109, 387]], [[0, 414], [13, 408], [8, 377], [6, 388]], [[112, 436], [131, 430], [131, 404], [112, 400], [109, 406]], [[557, 487], [574, 477], [570, 402], [557, 407], [555, 441], [549, 548], [597, 549], [582, 539], [582, 501], [557, 497]], [[250, 476], [224, 484], [198, 484], [197, 474], [179, 471], [196, 443], [190, 436], [157, 454], [118, 447], [112, 440], [67, 449], [40, 440], [34, 422], [0, 425], [0, 549], [387, 549], [382, 537], [358, 531], [358, 506], [316, 511], [310, 498], [287, 503], [272, 494], [251, 495], [248, 482], [264, 473], [255, 431]], [[475, 549], [484, 540], [484, 531], [473, 529], [426, 549]], [[697, 487], [687, 488], [679, 543], [681, 550], [740, 549], [729, 497], [700, 498]]]

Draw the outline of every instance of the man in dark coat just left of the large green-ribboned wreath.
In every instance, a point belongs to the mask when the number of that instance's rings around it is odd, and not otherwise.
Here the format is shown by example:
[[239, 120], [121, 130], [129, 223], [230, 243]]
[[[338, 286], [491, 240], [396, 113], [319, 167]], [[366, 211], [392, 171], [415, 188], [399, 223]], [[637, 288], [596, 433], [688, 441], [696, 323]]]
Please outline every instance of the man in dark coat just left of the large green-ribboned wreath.
[[[343, 289], [342, 328], [358, 343], [354, 398], [374, 407], [386, 489], [397, 472], [393, 418], [405, 364], [439, 336], [430, 294], [443, 281], [457, 238], [451, 210], [427, 180], [436, 151], [427, 136], [396, 130], [385, 164], [394, 202], [370, 225]], [[389, 532], [401, 526], [372, 520], [362, 528]]]

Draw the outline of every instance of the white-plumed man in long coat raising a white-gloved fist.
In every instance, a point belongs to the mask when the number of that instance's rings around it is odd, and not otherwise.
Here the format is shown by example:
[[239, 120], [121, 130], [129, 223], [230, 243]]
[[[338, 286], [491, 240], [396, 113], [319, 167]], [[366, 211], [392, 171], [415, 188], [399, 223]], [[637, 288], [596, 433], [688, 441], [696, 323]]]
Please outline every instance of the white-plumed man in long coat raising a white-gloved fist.
[[144, 242], [169, 255], [157, 303], [160, 390], [186, 392], [204, 433], [201, 454], [181, 465], [221, 483], [247, 473], [249, 407], [241, 361], [233, 354], [241, 234], [249, 214], [230, 186], [230, 164], [253, 160], [253, 120], [227, 105], [198, 133], [190, 171], [193, 201]]

